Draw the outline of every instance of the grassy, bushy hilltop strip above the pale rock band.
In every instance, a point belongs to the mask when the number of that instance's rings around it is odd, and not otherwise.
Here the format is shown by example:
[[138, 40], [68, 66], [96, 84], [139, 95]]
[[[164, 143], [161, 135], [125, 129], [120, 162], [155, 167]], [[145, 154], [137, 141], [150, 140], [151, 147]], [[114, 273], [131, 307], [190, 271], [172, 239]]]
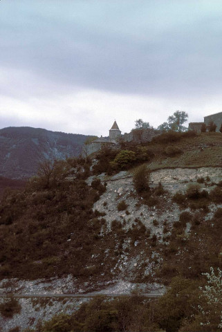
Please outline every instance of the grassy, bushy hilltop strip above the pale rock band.
[[[140, 129], [139, 129], [140, 130]], [[165, 167], [203, 167], [221, 165], [221, 133], [196, 134], [194, 131], [166, 131], [151, 142], [120, 142], [118, 149], [104, 147], [95, 154], [98, 163], [93, 173], [108, 175], [128, 170], [142, 163], [149, 169]]]

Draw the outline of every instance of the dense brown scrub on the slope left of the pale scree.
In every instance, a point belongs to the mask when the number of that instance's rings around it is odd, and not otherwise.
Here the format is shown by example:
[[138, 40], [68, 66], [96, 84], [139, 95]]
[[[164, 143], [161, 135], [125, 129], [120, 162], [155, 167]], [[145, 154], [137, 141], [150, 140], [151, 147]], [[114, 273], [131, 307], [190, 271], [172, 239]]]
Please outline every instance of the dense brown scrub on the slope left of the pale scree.
[[1, 277], [96, 275], [96, 267], [86, 268], [100, 250], [102, 221], [92, 207], [106, 188], [98, 179], [85, 183], [88, 167], [81, 159], [46, 163], [24, 191], [3, 195]]

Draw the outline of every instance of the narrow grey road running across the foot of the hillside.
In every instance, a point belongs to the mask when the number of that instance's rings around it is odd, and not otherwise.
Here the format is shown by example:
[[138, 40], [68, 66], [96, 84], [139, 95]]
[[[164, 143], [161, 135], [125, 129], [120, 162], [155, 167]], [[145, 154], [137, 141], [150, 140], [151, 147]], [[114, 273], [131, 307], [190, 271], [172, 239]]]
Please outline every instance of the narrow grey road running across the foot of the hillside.
[[[163, 296], [163, 293], [145, 293], [140, 294], [144, 297], [149, 298], [158, 298]], [[89, 294], [0, 294], [0, 297], [19, 297], [19, 298], [31, 298], [31, 297], [73, 297], [73, 298], [92, 298], [97, 296], [104, 296], [104, 297], [127, 297], [127, 296], [133, 296], [131, 294], [127, 293], [120, 293], [120, 294], [95, 294], [95, 293], [89, 293]]]

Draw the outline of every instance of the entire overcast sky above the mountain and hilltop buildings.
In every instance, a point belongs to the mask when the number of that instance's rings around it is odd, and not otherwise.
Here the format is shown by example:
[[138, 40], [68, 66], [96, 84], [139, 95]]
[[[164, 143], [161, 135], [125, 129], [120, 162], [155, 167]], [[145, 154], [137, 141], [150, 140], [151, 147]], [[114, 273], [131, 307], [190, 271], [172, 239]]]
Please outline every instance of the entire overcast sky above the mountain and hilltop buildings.
[[0, 1], [0, 128], [202, 121], [221, 91], [221, 0]]

